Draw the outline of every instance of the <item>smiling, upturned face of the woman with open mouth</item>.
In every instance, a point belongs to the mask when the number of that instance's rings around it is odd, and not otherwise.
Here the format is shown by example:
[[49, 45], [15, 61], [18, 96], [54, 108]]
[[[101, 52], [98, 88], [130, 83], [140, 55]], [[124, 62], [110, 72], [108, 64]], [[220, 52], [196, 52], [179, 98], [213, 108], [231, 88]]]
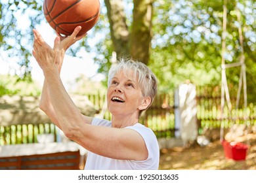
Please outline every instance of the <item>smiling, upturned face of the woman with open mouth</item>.
[[112, 115], [129, 115], [143, 109], [142, 92], [133, 71], [129, 71], [127, 75], [120, 71], [112, 78], [107, 100], [108, 110]]

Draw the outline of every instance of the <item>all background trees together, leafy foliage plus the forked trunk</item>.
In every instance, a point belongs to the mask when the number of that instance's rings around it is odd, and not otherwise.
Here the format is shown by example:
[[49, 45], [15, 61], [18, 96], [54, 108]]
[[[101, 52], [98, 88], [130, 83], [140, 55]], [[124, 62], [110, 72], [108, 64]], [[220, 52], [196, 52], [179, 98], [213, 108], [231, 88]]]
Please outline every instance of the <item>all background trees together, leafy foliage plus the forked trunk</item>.
[[[4, 50], [12, 58], [16, 56], [24, 67], [23, 74], [29, 75], [32, 28], [45, 21], [41, 11], [43, 1], [0, 2], [1, 52]], [[108, 72], [116, 56], [139, 59], [158, 76], [160, 92], [173, 90], [187, 79], [200, 85], [220, 84], [224, 0], [104, 0], [100, 3], [97, 24], [68, 54], [75, 56], [81, 50], [94, 53], [100, 73]], [[256, 88], [253, 80], [256, 75], [256, 2], [228, 0], [227, 5], [226, 62], [234, 63], [240, 58], [238, 27], [241, 26], [247, 87], [248, 91], [253, 91]], [[241, 13], [240, 20], [236, 8]], [[16, 14], [28, 14], [26, 29], [17, 27]], [[239, 73], [239, 68], [227, 70], [230, 85], [238, 84]], [[253, 97], [251, 95], [251, 101]]]

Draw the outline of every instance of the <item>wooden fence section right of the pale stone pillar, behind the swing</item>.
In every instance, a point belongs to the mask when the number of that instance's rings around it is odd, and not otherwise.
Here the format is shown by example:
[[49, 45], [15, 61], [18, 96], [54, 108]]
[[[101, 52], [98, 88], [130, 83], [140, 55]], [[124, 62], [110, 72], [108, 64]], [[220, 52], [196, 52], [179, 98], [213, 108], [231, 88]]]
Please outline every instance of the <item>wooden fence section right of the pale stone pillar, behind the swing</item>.
[[223, 123], [225, 128], [233, 124], [256, 124], [256, 106], [250, 103], [244, 108], [241, 99], [236, 109], [236, 90], [230, 91], [231, 110], [225, 103], [221, 112], [221, 87], [197, 87], [197, 118], [200, 129], [220, 128]]

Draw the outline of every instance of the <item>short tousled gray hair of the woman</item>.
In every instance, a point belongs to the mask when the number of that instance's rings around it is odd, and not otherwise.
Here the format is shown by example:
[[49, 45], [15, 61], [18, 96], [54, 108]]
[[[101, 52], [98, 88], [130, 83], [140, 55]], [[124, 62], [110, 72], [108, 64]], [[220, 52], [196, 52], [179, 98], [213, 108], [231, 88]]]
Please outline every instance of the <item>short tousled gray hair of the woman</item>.
[[121, 58], [119, 62], [113, 64], [110, 68], [108, 73], [108, 86], [110, 86], [112, 78], [114, 78], [119, 71], [123, 71], [124, 73], [134, 71], [135, 78], [138, 76], [138, 84], [142, 91], [142, 95], [143, 97], [151, 98], [151, 105], [158, 91], [158, 80], [148, 66], [140, 61]]

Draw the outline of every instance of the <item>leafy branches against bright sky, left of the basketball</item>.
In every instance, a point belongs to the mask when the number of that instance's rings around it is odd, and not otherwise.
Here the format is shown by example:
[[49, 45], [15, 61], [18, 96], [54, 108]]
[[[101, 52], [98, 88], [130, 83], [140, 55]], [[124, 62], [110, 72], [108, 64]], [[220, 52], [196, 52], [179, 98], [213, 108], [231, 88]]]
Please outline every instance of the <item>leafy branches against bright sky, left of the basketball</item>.
[[[31, 76], [30, 58], [32, 50], [32, 29], [39, 24], [43, 17], [41, 13], [42, 2], [37, 1], [0, 1], [1, 14], [5, 18], [0, 19], [0, 43], [1, 52], [26, 67], [22, 76]], [[19, 20], [28, 18], [24, 24]], [[5, 60], [6, 58], [2, 59]]]

